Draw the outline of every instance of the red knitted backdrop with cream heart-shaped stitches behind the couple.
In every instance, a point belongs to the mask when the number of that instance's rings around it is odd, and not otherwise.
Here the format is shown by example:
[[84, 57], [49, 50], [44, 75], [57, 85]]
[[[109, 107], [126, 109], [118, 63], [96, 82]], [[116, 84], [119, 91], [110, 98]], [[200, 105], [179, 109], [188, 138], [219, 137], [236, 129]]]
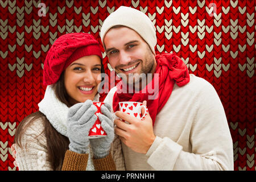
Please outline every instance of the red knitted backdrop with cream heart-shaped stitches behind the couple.
[[[176, 52], [189, 72], [214, 86], [233, 138], [234, 169], [256, 169], [255, 1], [0, 3], [0, 170], [17, 170], [10, 147], [19, 122], [38, 110], [43, 98], [42, 71], [49, 47], [68, 32], [90, 32], [100, 41], [102, 22], [121, 5], [143, 11], [154, 22], [156, 53]], [[39, 3], [44, 3], [46, 16]], [[104, 52], [109, 74], [107, 62]]]

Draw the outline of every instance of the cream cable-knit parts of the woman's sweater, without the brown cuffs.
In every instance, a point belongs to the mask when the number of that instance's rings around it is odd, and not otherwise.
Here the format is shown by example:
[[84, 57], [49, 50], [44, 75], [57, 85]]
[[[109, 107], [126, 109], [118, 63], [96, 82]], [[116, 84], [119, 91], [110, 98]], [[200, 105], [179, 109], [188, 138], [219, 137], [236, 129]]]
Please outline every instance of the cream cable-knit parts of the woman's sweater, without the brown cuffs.
[[[48, 150], [46, 135], [42, 133], [44, 126], [41, 119], [36, 120], [22, 135], [22, 148], [15, 146], [16, 162], [19, 171], [52, 171], [47, 160]], [[117, 170], [125, 170], [120, 140], [115, 137], [110, 152]], [[89, 158], [86, 171], [94, 171], [92, 149], [89, 147]]]

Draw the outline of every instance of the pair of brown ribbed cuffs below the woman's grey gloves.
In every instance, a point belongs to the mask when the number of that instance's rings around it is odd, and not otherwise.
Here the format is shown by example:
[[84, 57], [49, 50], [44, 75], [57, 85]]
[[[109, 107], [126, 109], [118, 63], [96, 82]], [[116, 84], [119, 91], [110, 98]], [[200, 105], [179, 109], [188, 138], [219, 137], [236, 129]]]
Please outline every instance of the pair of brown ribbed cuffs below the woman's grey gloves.
[[[78, 154], [67, 150], [63, 161], [62, 171], [85, 171], [89, 154]], [[115, 171], [115, 163], [112, 155], [109, 154], [103, 159], [93, 159], [96, 171]]]

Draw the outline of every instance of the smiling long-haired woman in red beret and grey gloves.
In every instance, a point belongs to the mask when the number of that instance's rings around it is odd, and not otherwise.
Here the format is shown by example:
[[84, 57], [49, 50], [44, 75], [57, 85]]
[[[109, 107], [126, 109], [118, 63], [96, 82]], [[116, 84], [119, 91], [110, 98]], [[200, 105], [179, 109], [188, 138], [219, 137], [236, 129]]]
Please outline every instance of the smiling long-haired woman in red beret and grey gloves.
[[66, 34], [53, 43], [44, 62], [48, 86], [39, 111], [24, 118], [15, 132], [19, 170], [124, 169], [108, 104], [98, 115], [107, 136], [88, 138], [97, 119], [92, 101], [98, 101], [103, 72], [100, 45], [92, 35]]

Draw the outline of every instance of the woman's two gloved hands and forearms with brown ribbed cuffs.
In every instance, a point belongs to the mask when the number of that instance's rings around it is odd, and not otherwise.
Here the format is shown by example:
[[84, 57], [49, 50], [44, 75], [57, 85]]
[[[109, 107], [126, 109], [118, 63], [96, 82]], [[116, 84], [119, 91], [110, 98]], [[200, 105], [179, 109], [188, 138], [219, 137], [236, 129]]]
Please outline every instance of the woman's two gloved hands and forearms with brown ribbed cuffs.
[[[112, 128], [108, 126], [108, 123], [101, 120], [102, 128], [104, 128], [108, 134], [103, 140], [102, 138], [90, 139], [89, 142], [89, 138], [87, 137], [90, 128], [92, 128], [93, 123], [97, 119], [96, 115], [94, 115], [96, 111], [97, 108], [92, 105], [92, 101], [90, 100], [73, 105], [69, 108], [67, 133], [71, 143], [69, 144], [69, 150], [65, 153], [62, 170], [86, 170], [89, 158], [89, 143], [92, 146], [94, 156], [97, 158], [93, 159], [94, 168], [96, 170], [115, 169], [112, 155], [109, 152], [114, 131], [111, 130]], [[104, 119], [109, 121], [107, 117]]]

